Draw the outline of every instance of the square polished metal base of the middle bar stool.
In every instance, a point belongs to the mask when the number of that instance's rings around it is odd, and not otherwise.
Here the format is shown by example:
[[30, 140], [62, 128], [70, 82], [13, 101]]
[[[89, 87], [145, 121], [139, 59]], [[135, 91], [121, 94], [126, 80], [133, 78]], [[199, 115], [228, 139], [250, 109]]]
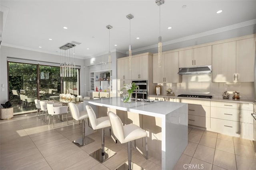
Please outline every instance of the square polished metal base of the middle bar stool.
[[98, 149], [94, 152], [92, 152], [90, 154], [90, 156], [92, 156], [94, 159], [98, 160], [100, 163], [106, 161], [108, 158], [110, 158], [111, 156], [114, 156], [116, 154], [116, 152], [114, 152], [113, 150], [104, 147], [104, 155], [102, 155], [102, 149]]

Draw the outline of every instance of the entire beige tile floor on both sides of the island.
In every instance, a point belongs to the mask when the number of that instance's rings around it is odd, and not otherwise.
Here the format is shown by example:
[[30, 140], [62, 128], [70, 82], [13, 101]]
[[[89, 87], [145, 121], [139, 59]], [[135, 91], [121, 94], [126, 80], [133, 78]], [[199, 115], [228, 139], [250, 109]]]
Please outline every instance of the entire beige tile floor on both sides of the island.
[[[114, 170], [127, 161], [127, 145], [115, 144], [106, 137], [105, 145], [117, 152], [100, 164], [89, 154], [100, 148], [100, 134], [89, 135], [95, 141], [77, 147], [71, 141], [82, 134], [82, 123], [70, 125], [56, 121], [54, 129], [36, 117], [36, 113], [14, 115], [0, 120], [1, 170]], [[51, 122], [52, 123], [52, 122]], [[160, 170], [161, 161], [149, 156], [146, 160], [132, 150], [132, 161], [148, 170]], [[252, 141], [210, 131], [188, 128], [188, 146], [174, 167], [175, 170], [256, 170], [256, 156]]]

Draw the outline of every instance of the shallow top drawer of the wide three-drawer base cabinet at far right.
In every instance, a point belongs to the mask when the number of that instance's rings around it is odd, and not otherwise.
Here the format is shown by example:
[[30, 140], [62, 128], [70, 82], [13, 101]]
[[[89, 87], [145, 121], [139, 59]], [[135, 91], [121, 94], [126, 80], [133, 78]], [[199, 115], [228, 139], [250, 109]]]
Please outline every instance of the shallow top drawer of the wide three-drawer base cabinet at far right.
[[253, 110], [253, 104], [245, 103], [231, 103], [231, 102], [215, 102], [211, 101], [211, 106], [213, 107], [224, 107], [230, 109], [244, 109], [244, 110]]

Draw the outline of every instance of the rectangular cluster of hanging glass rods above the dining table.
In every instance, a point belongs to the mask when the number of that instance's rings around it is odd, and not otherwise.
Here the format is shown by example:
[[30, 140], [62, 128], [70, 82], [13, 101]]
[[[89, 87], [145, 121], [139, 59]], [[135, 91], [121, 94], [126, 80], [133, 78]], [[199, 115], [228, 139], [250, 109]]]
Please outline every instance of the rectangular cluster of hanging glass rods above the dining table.
[[[60, 76], [61, 77], [74, 77], [76, 76], [75, 64], [75, 44], [67, 43], [60, 47]], [[73, 51], [74, 48], [74, 51]]]

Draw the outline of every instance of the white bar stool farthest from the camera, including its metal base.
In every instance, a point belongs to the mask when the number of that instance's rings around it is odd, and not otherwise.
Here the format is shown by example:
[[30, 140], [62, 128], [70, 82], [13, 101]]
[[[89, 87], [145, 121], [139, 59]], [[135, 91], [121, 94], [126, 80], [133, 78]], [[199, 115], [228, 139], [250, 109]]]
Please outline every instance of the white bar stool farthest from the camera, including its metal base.
[[73, 102], [69, 102], [68, 106], [70, 109], [71, 116], [77, 121], [82, 120], [82, 126], [83, 126], [82, 127], [83, 128], [82, 138], [73, 141], [73, 143], [75, 145], [77, 145], [78, 147], [83, 147], [84, 145], [94, 142], [93, 139], [91, 139], [89, 137], [85, 137], [85, 119], [88, 118], [87, 112], [85, 110], [79, 111], [78, 107]]

